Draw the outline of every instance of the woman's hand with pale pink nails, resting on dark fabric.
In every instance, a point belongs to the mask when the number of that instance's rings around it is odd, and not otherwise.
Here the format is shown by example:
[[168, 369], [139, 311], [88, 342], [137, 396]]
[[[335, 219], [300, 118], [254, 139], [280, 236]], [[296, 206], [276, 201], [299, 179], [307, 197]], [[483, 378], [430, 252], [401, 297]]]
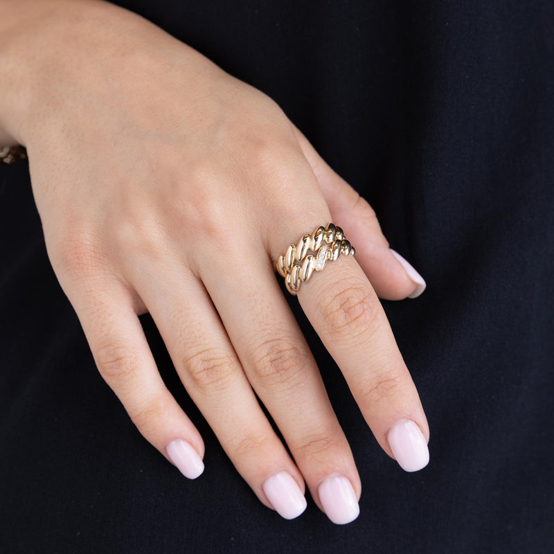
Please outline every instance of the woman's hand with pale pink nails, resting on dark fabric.
[[357, 256], [328, 263], [298, 300], [385, 452], [425, 466], [425, 414], [377, 299], [425, 283], [370, 206], [275, 102], [148, 21], [95, 1], [18, 10], [2, 29], [1, 127], [28, 149], [48, 256], [143, 436], [186, 476], [202, 473], [202, 438], [139, 322], [150, 312], [262, 503], [296, 517], [305, 480], [332, 521], [357, 516], [348, 441], [275, 276], [291, 242], [333, 221]]

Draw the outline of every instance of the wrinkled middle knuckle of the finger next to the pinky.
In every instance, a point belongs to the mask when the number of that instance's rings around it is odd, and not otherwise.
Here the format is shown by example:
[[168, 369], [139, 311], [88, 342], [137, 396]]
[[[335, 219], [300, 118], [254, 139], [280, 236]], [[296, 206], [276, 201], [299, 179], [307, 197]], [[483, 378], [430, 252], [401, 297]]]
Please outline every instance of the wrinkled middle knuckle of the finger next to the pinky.
[[216, 393], [233, 384], [238, 372], [228, 352], [215, 348], [199, 350], [184, 359], [184, 366], [202, 393]]

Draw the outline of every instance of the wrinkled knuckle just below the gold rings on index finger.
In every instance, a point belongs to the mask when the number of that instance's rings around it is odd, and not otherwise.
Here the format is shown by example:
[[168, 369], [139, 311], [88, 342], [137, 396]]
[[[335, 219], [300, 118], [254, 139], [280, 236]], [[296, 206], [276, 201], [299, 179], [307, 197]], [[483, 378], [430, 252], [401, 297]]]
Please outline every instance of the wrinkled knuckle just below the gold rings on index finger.
[[361, 285], [343, 281], [323, 303], [323, 318], [330, 334], [339, 339], [368, 339], [377, 329], [375, 301]]

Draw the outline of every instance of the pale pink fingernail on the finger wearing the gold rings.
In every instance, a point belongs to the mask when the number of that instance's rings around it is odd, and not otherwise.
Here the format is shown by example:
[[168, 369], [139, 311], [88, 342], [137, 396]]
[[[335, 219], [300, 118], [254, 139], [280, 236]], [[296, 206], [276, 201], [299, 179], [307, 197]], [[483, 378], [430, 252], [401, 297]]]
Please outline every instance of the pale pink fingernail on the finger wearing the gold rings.
[[400, 420], [388, 431], [388, 444], [405, 472], [417, 472], [429, 463], [429, 448], [419, 425]]

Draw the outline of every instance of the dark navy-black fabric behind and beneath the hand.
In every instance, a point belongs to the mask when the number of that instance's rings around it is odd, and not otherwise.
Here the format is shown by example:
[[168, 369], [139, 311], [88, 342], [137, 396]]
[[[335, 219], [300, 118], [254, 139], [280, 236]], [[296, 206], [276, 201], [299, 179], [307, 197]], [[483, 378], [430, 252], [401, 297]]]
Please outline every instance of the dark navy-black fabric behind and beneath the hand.
[[431, 461], [406, 474], [380, 451], [292, 301], [359, 467], [359, 518], [261, 506], [143, 316], [206, 442], [204, 475], [181, 477], [98, 375], [18, 163], [0, 168], [0, 550], [554, 551], [553, 3], [121, 4], [274, 98], [425, 276], [385, 307]]

